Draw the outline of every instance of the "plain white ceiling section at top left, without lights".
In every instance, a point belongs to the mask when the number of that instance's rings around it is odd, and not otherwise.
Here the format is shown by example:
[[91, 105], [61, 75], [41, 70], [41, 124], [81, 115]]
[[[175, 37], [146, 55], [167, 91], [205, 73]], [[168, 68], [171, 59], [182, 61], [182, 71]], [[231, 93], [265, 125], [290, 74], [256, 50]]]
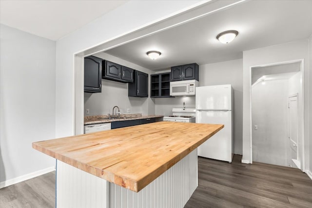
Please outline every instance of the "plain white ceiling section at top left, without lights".
[[0, 23], [57, 40], [126, 0], [1, 0]]

